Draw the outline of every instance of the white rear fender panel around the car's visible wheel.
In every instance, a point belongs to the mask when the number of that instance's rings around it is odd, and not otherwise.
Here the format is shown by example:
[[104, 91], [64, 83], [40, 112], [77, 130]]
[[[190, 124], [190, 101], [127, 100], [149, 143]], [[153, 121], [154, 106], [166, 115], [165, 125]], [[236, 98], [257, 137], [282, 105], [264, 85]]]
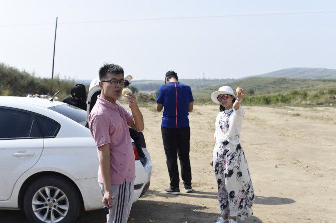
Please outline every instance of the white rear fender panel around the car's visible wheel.
[[[30, 176], [40, 172], [51, 171], [61, 173], [73, 181], [94, 178], [96, 184], [98, 184], [97, 171], [99, 160], [96, 147], [93, 147], [92, 143], [92, 138], [45, 139], [45, 147], [40, 160], [33, 168], [21, 175], [14, 186], [12, 196], [8, 202], [0, 201], [0, 207], [17, 208], [19, 191], [22, 184]], [[75, 145], [70, 146], [72, 144]], [[81, 193], [83, 195], [82, 191]], [[84, 200], [85, 204], [87, 202], [89, 201]]]

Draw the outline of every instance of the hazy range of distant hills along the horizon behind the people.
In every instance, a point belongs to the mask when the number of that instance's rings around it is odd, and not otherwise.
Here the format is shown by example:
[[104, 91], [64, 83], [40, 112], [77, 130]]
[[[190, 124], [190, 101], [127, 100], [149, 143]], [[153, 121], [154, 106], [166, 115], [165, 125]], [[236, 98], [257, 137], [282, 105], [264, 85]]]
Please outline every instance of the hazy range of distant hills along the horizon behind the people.
[[[329, 81], [330, 80], [330, 81]], [[88, 80], [77, 80], [89, 84]], [[336, 70], [323, 68], [289, 68], [262, 75], [241, 79], [180, 79], [180, 82], [191, 87], [196, 98], [208, 97], [220, 86], [230, 85], [232, 88], [243, 87], [255, 94], [267, 94], [291, 89], [332, 87], [336, 85]], [[133, 80], [131, 86], [139, 91], [153, 92], [164, 84], [164, 80]]]

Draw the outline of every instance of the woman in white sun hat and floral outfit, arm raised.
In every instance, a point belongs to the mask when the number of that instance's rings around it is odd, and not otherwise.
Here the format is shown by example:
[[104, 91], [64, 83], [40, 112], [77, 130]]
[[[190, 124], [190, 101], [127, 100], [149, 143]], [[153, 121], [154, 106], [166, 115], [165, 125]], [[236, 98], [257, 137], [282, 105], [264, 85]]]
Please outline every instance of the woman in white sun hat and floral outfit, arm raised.
[[211, 161], [218, 184], [221, 210], [216, 223], [236, 223], [236, 218], [245, 219], [253, 213], [253, 185], [239, 139], [244, 118], [240, 103], [246, 94], [240, 88], [236, 92], [237, 95], [231, 87], [222, 86], [211, 94], [212, 101], [220, 105], [215, 122]]

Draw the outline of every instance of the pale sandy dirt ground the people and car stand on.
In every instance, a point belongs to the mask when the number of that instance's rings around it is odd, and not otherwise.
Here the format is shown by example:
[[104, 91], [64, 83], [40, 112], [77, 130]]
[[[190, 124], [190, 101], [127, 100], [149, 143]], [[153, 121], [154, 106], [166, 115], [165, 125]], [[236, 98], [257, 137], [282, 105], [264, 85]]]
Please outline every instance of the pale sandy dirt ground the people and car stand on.
[[[241, 138], [255, 190], [254, 214], [238, 222], [336, 222], [336, 109], [244, 107]], [[209, 162], [218, 107], [190, 114], [193, 193], [164, 193], [169, 177], [161, 138], [162, 113], [141, 108], [153, 172], [149, 192], [133, 204], [129, 222], [215, 222], [217, 185]], [[180, 188], [183, 189], [181, 182]], [[3, 221], [3, 220], [5, 221]], [[152, 220], [152, 221], [150, 221]], [[20, 211], [0, 211], [1, 222], [26, 222]], [[105, 222], [102, 210], [78, 223]]]

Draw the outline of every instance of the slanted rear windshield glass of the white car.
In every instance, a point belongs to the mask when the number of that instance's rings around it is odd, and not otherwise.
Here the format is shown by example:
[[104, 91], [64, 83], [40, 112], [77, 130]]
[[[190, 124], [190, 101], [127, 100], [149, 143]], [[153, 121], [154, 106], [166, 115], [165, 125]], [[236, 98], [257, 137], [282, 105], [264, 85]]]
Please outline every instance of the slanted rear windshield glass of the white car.
[[65, 115], [83, 126], [85, 126], [86, 124], [86, 111], [84, 111], [83, 109], [68, 104], [49, 107], [49, 109]]

